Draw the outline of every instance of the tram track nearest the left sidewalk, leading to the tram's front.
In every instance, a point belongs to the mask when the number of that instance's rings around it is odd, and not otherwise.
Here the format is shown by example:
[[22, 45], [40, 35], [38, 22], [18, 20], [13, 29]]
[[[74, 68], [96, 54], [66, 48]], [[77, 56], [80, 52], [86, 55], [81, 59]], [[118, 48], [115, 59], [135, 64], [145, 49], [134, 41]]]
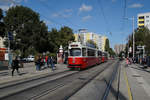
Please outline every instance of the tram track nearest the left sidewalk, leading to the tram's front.
[[[31, 89], [32, 87], [37, 87], [37, 86], [47, 83], [47, 82], [55, 81], [61, 77], [65, 77], [66, 73], [67, 73], [67, 75], [70, 75], [70, 74], [73, 74], [76, 72], [77, 71], [70, 72], [69, 70], [66, 70], [66, 71], [62, 71], [59, 73], [46, 75], [46, 76], [43, 76], [40, 78], [29, 79], [27, 81], [18, 82], [16, 84], [9, 84], [9, 85], [0, 87], [0, 93], [1, 93], [0, 99], [7, 98], [9, 96], [20, 93], [21, 91], [26, 91], [28, 89]], [[35, 83], [37, 83], [37, 84], [35, 84]], [[17, 89], [17, 90], [15, 90], [15, 89]]]

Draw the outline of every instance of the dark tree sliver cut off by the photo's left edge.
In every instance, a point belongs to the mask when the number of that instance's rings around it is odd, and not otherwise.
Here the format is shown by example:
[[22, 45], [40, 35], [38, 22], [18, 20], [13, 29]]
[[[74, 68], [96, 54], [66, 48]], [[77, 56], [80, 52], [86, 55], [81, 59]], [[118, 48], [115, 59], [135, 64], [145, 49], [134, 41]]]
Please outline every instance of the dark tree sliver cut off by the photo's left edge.
[[4, 37], [5, 36], [5, 24], [2, 22], [3, 20], [3, 11], [0, 8], [0, 36]]

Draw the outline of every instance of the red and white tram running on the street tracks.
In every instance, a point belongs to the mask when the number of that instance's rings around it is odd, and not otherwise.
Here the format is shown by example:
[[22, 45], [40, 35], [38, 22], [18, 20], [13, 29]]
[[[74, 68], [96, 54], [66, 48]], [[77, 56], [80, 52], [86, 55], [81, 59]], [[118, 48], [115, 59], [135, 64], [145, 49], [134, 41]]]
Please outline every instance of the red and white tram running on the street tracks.
[[107, 53], [80, 42], [69, 44], [68, 68], [85, 69], [107, 61]]

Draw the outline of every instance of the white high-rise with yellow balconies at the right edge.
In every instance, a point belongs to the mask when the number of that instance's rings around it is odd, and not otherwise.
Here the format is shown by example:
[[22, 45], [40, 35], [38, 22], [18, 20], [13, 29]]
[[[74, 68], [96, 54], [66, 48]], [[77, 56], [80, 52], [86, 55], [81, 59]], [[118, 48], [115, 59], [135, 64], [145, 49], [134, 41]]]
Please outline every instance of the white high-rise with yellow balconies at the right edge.
[[150, 12], [138, 14], [138, 28], [147, 27], [150, 30]]

